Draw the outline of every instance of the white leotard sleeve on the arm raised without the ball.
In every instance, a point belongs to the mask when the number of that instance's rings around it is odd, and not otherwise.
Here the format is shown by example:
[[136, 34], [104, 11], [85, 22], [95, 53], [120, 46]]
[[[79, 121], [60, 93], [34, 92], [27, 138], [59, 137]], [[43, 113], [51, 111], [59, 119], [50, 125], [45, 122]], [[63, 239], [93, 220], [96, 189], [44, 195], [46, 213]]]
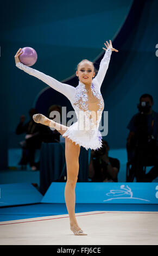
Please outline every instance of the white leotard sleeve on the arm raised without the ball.
[[106, 71], [108, 70], [110, 58], [111, 58], [111, 49], [108, 48], [104, 54], [103, 59], [100, 62], [99, 70], [97, 76], [94, 78], [94, 80], [97, 80], [97, 84], [99, 85], [99, 89], [102, 86], [104, 77], [106, 75]]

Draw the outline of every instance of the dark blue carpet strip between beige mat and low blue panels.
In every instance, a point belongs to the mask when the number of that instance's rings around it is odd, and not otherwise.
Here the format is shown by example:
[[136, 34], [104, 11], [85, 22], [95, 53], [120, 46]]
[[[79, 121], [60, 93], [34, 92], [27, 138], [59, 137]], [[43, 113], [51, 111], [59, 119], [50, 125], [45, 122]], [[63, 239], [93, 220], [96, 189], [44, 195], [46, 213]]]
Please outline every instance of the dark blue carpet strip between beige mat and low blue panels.
[[[155, 204], [76, 204], [75, 213], [89, 211], [158, 211]], [[0, 221], [67, 214], [66, 204], [34, 204], [0, 209]]]

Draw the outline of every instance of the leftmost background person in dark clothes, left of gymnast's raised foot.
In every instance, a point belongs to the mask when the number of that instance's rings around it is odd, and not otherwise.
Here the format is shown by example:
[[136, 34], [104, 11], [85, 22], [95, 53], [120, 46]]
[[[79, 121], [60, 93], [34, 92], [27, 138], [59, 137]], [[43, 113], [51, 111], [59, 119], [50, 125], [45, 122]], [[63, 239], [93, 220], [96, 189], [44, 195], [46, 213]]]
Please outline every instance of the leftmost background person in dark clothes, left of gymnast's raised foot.
[[24, 124], [25, 116], [21, 115], [20, 123], [16, 127], [16, 134], [26, 133], [25, 141], [21, 142], [22, 159], [18, 163], [20, 165], [30, 164], [32, 170], [39, 169], [39, 162], [35, 163], [35, 150], [41, 148], [41, 124], [35, 123], [33, 115], [36, 114], [36, 109], [31, 108], [29, 111], [30, 121]]

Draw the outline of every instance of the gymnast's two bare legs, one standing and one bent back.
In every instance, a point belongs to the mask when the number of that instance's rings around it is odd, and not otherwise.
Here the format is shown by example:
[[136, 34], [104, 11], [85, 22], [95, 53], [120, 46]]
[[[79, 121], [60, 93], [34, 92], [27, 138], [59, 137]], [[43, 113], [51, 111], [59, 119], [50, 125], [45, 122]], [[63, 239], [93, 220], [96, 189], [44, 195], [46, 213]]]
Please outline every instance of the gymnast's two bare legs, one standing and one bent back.
[[[44, 124], [50, 127], [54, 127], [60, 132], [61, 135], [67, 130], [67, 126], [55, 123], [55, 121], [48, 119], [45, 115], [35, 114], [33, 119], [36, 123]], [[65, 158], [66, 158], [66, 169], [67, 169], [67, 182], [65, 186], [65, 202], [69, 215], [69, 221], [71, 229], [76, 235], [86, 235], [78, 226], [75, 218], [75, 185], [78, 179], [79, 172], [79, 154], [80, 146], [72, 142], [68, 137], [65, 138]], [[78, 231], [81, 230], [79, 233]]]

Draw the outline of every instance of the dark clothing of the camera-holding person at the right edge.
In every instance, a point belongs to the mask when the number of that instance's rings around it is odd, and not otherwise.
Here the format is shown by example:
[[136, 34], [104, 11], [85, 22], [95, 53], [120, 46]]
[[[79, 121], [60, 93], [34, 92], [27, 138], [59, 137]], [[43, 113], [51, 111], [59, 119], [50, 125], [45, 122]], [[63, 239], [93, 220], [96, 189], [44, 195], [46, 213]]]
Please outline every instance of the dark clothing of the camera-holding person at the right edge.
[[[139, 143], [136, 138], [136, 119], [138, 117], [141, 117], [140, 113], [135, 114], [127, 126], [131, 132], [135, 132], [135, 136], [131, 139], [130, 144], [127, 145], [129, 161], [132, 164], [127, 181], [131, 182], [136, 177], [137, 182], [151, 182], [158, 176], [158, 113], [152, 111], [151, 114], [144, 115], [146, 117], [144, 119], [146, 127], [144, 127], [144, 132], [142, 132], [142, 138], [141, 133], [137, 136], [140, 139]], [[150, 140], [148, 139], [149, 137]], [[145, 165], [154, 167], [150, 169], [149, 173], [145, 174], [143, 170]]]

